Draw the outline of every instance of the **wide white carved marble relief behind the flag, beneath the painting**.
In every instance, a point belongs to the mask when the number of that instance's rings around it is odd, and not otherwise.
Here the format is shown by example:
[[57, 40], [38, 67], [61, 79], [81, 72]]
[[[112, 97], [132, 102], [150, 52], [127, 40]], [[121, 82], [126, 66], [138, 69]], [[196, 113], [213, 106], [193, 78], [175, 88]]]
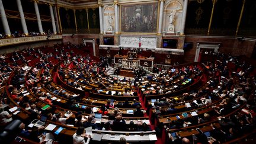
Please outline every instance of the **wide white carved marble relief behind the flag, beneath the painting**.
[[139, 47], [139, 39], [142, 48], [156, 48], [156, 37], [120, 37], [121, 46]]

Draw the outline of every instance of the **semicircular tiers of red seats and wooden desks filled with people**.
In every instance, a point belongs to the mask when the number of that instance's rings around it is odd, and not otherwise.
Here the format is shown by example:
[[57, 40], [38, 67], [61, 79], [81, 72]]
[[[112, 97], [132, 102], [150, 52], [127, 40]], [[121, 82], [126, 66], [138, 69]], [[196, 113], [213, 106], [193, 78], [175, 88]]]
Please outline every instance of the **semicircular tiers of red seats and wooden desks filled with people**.
[[[201, 136], [198, 128], [221, 143], [229, 143], [255, 132], [250, 101], [255, 96], [255, 73], [247, 68], [241, 71], [239, 58], [226, 63], [226, 57], [220, 57], [206, 63], [173, 66], [142, 78], [120, 79], [106, 75], [100, 59], [75, 47], [28, 52], [39, 56], [26, 57], [28, 65], [12, 63], [8, 65], [11, 70], [1, 71], [6, 77], [6, 84], [2, 83], [2, 93], [6, 92], [3, 103], [12, 108], [5, 110], [13, 114], [12, 119], [21, 119], [30, 126], [25, 129], [37, 127], [34, 119], [42, 120], [47, 128], [40, 133], [55, 132], [59, 143], [72, 143], [79, 126], [92, 127], [95, 143], [97, 136], [115, 142], [111, 135], [126, 135], [129, 142], [169, 143], [183, 137], [193, 141], [193, 134]], [[98, 114], [100, 123], [93, 121]], [[123, 123], [116, 125], [120, 116]], [[56, 134], [61, 127], [65, 129]], [[235, 135], [238, 131], [245, 134]], [[31, 143], [38, 140], [23, 133], [19, 136]], [[161, 139], [156, 141], [156, 136]]]

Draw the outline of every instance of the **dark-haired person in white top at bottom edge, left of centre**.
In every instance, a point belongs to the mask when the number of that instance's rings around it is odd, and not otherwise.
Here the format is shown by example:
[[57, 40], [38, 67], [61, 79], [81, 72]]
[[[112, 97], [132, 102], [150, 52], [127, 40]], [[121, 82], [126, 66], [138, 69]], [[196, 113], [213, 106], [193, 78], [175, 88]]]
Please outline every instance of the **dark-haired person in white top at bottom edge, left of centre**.
[[[87, 142], [85, 142], [85, 137], [87, 137]], [[90, 140], [91, 136], [85, 133], [84, 127], [78, 127], [73, 135], [73, 144], [88, 144]]]

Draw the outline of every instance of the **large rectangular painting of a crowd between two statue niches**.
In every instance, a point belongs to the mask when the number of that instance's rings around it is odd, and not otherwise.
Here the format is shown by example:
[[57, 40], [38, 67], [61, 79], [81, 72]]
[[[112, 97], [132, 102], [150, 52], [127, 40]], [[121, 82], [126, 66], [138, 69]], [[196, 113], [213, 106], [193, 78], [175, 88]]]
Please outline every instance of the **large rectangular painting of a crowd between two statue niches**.
[[158, 3], [121, 5], [121, 32], [156, 33]]

